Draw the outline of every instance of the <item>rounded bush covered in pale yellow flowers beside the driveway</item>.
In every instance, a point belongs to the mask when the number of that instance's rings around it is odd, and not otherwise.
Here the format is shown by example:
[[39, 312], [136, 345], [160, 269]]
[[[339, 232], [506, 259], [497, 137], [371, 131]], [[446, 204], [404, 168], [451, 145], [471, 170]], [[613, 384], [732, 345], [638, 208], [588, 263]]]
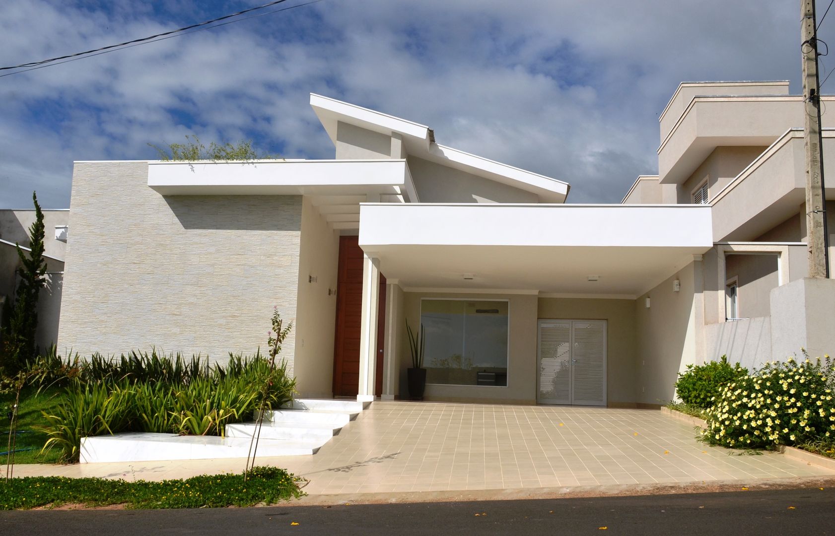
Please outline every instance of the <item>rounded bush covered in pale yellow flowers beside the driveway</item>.
[[835, 437], [832, 361], [769, 362], [729, 383], [707, 412], [706, 442], [731, 448]]

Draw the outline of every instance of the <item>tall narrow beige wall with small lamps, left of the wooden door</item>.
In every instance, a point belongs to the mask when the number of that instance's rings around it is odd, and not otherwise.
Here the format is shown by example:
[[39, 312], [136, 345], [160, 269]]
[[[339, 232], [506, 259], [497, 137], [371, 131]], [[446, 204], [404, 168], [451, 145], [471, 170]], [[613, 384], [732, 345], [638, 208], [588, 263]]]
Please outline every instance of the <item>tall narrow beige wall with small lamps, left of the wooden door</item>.
[[[306, 397], [333, 395], [338, 263], [339, 235], [327, 225], [311, 200], [304, 197], [301, 205], [295, 366], [296, 389]], [[316, 281], [311, 282], [311, 277]]]

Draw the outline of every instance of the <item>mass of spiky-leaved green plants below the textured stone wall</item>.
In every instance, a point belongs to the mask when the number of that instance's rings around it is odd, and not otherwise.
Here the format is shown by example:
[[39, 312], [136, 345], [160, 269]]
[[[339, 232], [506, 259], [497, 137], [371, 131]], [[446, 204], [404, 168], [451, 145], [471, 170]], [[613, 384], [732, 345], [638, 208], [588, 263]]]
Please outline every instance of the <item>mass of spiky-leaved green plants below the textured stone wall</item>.
[[119, 432], [223, 436], [226, 424], [253, 418], [262, 399], [267, 409], [281, 407], [296, 392], [286, 363], [272, 367], [260, 352], [230, 356], [225, 367], [200, 356], [189, 362], [180, 354], [155, 351], [132, 351], [119, 360], [76, 357], [61, 366], [54, 357], [47, 360], [49, 370], [72, 371], [65, 377], [63, 402], [43, 416], [44, 451], [58, 448], [67, 462], [78, 461], [82, 437]]

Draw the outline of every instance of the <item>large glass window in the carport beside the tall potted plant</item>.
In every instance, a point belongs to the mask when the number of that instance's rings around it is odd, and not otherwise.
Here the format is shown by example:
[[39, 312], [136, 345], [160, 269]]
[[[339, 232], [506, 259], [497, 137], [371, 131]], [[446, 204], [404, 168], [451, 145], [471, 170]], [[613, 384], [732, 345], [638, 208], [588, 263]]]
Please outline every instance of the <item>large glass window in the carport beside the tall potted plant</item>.
[[508, 385], [508, 301], [421, 301], [426, 382]]

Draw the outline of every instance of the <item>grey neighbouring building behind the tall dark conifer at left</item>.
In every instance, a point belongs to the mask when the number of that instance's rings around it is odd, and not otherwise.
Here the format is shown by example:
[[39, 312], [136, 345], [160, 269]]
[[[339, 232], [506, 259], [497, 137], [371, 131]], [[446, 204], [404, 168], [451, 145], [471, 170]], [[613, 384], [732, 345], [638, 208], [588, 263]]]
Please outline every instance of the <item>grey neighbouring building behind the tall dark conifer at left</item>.
[[[43, 257], [46, 261], [46, 286], [38, 299], [38, 330], [35, 343], [41, 350], [58, 341], [58, 318], [61, 314], [63, 259], [67, 250], [69, 210], [43, 210]], [[3, 303], [14, 303], [18, 286], [20, 258], [14, 245], [29, 251], [29, 227], [35, 221], [35, 210], [0, 209], [0, 321]]]

